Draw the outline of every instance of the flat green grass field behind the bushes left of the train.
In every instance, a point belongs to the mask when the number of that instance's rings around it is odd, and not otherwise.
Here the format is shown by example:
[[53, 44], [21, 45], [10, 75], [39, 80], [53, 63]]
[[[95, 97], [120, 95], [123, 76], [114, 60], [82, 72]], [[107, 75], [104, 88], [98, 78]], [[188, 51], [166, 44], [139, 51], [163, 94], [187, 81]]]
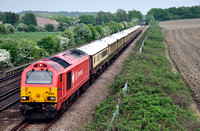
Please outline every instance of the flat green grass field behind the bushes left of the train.
[[22, 40], [22, 39], [27, 39], [31, 40], [34, 43], [37, 43], [39, 40], [44, 38], [45, 36], [48, 35], [57, 35], [58, 32], [14, 32], [13, 34], [5, 34], [5, 35], [0, 35], [0, 39], [6, 39], [10, 38], [13, 40]]

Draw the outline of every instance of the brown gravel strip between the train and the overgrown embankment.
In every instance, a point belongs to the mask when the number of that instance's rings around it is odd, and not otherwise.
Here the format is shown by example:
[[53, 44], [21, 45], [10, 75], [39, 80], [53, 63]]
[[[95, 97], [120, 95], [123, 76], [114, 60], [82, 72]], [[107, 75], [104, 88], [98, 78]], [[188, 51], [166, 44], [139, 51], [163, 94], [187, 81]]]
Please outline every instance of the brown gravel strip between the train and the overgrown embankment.
[[68, 109], [62, 118], [50, 130], [74, 131], [84, 124], [92, 122], [92, 113], [96, 105], [109, 94], [107, 87], [114, 81], [114, 77], [123, 67], [123, 61], [133, 52], [133, 47], [140, 35], [106, 71], [87, 89], [87, 91]]

